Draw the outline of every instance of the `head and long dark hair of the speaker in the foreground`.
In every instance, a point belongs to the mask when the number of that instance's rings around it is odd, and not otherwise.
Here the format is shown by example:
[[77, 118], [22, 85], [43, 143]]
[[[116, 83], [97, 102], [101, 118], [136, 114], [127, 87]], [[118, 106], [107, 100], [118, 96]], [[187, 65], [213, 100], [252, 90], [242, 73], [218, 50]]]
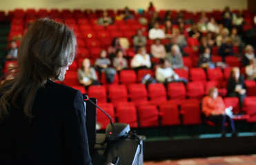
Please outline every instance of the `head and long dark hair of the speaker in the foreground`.
[[23, 109], [32, 118], [38, 89], [50, 78], [63, 80], [62, 69], [74, 60], [76, 45], [75, 34], [66, 25], [51, 19], [32, 23], [19, 45], [16, 76], [0, 86], [0, 120], [10, 115], [10, 109]]

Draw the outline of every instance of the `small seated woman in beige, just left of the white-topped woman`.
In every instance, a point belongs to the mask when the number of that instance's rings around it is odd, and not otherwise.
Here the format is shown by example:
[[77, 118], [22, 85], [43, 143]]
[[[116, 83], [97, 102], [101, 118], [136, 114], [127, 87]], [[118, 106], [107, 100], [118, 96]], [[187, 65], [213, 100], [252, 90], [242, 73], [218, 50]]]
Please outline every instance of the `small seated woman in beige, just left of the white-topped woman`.
[[128, 68], [128, 63], [126, 58], [124, 58], [124, 52], [122, 50], [117, 50], [115, 53], [115, 58], [113, 59], [113, 67], [115, 67], [117, 71]]

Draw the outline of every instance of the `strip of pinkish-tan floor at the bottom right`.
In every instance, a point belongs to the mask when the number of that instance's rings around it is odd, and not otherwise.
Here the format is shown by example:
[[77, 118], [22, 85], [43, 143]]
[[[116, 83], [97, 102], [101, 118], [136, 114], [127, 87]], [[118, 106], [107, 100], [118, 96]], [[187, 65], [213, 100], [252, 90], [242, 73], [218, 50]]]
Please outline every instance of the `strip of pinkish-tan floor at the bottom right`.
[[161, 162], [144, 162], [144, 165], [256, 165], [256, 155], [234, 155], [190, 159], [170, 159]]

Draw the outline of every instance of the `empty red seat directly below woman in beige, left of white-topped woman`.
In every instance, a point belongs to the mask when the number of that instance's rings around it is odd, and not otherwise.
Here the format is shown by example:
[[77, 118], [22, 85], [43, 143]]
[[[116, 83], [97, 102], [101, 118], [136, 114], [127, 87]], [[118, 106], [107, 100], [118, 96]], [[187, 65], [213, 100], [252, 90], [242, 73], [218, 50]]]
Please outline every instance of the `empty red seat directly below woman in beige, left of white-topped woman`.
[[137, 82], [137, 74], [135, 70], [121, 70], [119, 73], [119, 80], [121, 84], [129, 85]]

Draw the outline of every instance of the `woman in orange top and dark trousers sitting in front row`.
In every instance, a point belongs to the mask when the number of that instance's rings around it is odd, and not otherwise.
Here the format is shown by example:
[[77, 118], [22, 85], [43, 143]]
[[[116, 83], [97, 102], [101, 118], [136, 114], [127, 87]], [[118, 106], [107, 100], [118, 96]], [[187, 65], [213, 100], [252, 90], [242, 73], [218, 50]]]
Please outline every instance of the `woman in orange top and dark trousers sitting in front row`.
[[226, 122], [230, 125], [233, 136], [237, 135], [233, 119], [226, 115], [226, 106], [223, 99], [218, 96], [218, 89], [216, 87], [210, 88], [208, 96], [203, 98], [201, 106], [206, 120], [210, 120], [221, 126], [221, 134], [223, 137], [226, 133]]

